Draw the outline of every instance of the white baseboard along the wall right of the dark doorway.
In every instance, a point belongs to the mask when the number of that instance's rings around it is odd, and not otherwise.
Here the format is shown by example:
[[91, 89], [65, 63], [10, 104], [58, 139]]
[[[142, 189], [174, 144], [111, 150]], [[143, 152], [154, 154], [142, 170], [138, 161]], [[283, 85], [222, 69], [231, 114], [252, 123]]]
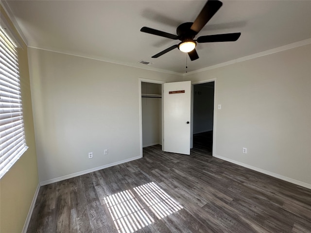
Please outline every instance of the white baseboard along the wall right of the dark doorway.
[[289, 178], [289, 177], [286, 177], [286, 176], [282, 176], [282, 175], [276, 174], [276, 173], [271, 172], [271, 171], [266, 171], [266, 170], [258, 168], [256, 166], [250, 166], [248, 164], [243, 164], [241, 162], [235, 161], [233, 159], [228, 159], [226, 157], [223, 157], [223, 156], [220, 156], [220, 155], [217, 155], [217, 154], [215, 154], [214, 157], [222, 159], [222, 160], [225, 160], [225, 161], [233, 163], [233, 164], [244, 166], [246, 168], [249, 168], [249, 169], [252, 169], [252, 170], [255, 170], [255, 171], [259, 171], [259, 172], [261, 172], [263, 174], [266, 174], [266, 175], [269, 175], [269, 176], [273, 176], [273, 177], [278, 178], [278, 179], [283, 180], [283, 181], [287, 181], [287, 182], [294, 183], [294, 184], [300, 185], [302, 187], [311, 189], [311, 184], [310, 183], [304, 183], [304, 182], [301, 182], [301, 181], [297, 181], [297, 180], [294, 180], [292, 178]]

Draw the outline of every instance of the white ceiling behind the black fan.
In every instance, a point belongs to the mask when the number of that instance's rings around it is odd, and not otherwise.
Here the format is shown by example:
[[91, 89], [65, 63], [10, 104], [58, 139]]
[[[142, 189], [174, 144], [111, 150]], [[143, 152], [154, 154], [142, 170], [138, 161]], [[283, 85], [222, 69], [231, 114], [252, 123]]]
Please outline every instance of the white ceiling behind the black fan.
[[[193, 22], [206, 1], [198, 0], [7, 0], [29, 47], [59, 51], [134, 67], [185, 73], [186, 54], [178, 49], [156, 53], [175, 40], [142, 33], [143, 26], [176, 34]], [[8, 9], [7, 9], [8, 8]], [[195, 37], [236, 33], [236, 42], [197, 45], [199, 59], [188, 71], [311, 38], [311, 1], [223, 0], [223, 6]]]

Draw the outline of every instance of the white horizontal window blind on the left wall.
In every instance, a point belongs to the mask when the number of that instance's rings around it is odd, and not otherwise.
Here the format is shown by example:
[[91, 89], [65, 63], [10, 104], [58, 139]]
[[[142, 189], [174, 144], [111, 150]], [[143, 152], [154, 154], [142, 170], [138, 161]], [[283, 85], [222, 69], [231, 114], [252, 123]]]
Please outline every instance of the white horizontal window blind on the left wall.
[[0, 179], [27, 148], [17, 51], [0, 28]]

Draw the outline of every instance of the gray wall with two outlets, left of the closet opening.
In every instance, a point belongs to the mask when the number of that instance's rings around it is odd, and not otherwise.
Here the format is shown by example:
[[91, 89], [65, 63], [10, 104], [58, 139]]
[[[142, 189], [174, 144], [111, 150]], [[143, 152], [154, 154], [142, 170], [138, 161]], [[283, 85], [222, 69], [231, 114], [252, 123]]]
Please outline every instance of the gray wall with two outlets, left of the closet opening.
[[32, 48], [29, 66], [41, 183], [138, 158], [139, 78], [181, 78]]

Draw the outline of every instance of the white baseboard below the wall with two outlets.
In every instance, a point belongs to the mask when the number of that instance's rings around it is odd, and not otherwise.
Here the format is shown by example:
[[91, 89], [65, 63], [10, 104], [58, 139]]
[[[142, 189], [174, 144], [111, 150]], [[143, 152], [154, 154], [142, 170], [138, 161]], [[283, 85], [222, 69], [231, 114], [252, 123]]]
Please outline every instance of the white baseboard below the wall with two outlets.
[[42, 181], [42, 182], [40, 182], [40, 185], [43, 186], [43, 185], [50, 184], [50, 183], [64, 181], [64, 180], [67, 180], [67, 179], [70, 179], [70, 178], [73, 178], [73, 177], [85, 175], [85, 174], [93, 172], [93, 171], [98, 171], [98, 170], [101, 170], [101, 169], [104, 169], [104, 168], [107, 168], [107, 167], [110, 167], [110, 166], [116, 166], [116, 165], [119, 165], [119, 164], [123, 164], [123, 163], [127, 163], [127, 162], [130, 162], [130, 161], [133, 161], [133, 160], [137, 160], [137, 159], [140, 159], [140, 156], [135, 156], [135, 157], [132, 157], [132, 158], [129, 158], [129, 159], [124, 159], [124, 160], [121, 160], [121, 161], [118, 161], [118, 162], [115, 162], [115, 163], [111, 163], [111, 164], [107, 164], [107, 165], [104, 165], [104, 166], [98, 166], [98, 167], [94, 167], [94, 168], [87, 169], [87, 170], [84, 170], [84, 171], [75, 172], [75, 173], [72, 173], [72, 174], [69, 174], [69, 175], [66, 175], [66, 176], [61, 176], [61, 177], [58, 177], [58, 178], [54, 178], [54, 179], [51, 179], [51, 180]]

